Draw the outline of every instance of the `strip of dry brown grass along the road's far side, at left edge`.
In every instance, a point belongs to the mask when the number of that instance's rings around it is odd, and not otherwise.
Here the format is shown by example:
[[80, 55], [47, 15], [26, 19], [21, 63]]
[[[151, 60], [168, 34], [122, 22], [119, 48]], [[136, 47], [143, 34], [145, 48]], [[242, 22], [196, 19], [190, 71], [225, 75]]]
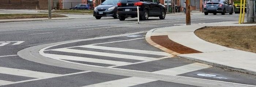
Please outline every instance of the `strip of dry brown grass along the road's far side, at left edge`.
[[[52, 14], [52, 18], [67, 17], [65, 15]], [[48, 14], [0, 14], [0, 19], [26, 19], [26, 18], [48, 18]]]

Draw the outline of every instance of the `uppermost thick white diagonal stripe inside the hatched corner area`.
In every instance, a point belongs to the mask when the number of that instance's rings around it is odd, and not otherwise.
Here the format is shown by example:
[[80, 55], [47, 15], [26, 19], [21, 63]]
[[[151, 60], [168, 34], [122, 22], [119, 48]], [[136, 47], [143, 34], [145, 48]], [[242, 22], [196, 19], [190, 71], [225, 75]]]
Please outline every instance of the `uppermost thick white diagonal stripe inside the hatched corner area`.
[[161, 55], [161, 56], [171, 56], [171, 54], [166, 53], [166, 52], [156, 52], [156, 51], [148, 51], [148, 50], [113, 48], [113, 47], [96, 46], [96, 45], [83, 45], [83, 46], [78, 46], [78, 47], [82, 47], [82, 48], [93, 48], [93, 49], [102, 49], [102, 50], [113, 50], [113, 51], [120, 51], [120, 52], [132, 52], [132, 53], [153, 54], [153, 55]]

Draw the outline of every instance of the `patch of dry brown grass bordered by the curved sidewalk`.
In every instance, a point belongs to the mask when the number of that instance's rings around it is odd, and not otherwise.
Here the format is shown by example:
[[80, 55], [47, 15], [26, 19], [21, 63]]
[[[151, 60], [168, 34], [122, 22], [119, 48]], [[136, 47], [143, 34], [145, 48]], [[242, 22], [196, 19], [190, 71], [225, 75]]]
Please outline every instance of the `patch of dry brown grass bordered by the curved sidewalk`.
[[256, 53], [256, 26], [205, 27], [195, 34], [211, 43]]

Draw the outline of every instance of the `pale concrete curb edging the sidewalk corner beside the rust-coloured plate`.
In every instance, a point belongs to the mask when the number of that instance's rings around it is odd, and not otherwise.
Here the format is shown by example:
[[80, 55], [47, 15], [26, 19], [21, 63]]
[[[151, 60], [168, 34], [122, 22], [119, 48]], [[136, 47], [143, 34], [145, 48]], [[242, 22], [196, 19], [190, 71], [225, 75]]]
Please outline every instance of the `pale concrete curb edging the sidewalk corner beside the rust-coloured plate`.
[[[205, 26], [205, 27], [207, 27], [207, 26]], [[166, 28], [166, 27], [161, 27], [161, 28]], [[209, 62], [209, 61], [204, 61], [204, 60], [200, 60], [200, 59], [193, 58], [193, 57], [182, 56], [179, 53], [176, 53], [176, 52], [174, 52], [172, 50], [169, 50], [169, 49], [167, 49], [167, 48], [165, 48], [163, 46], [160, 46], [157, 43], [153, 42], [150, 37], [151, 37], [151, 33], [153, 33], [155, 30], [161, 29], [161, 28], [152, 29], [152, 30], [147, 32], [147, 34], [146, 34], [146, 41], [149, 44], [151, 44], [151, 45], [153, 45], [153, 46], [155, 46], [155, 47], [157, 47], [157, 48], [159, 48], [159, 49], [161, 49], [161, 50], [163, 50], [163, 51], [165, 51], [167, 53], [173, 54], [174, 56], [178, 56], [178, 57], [185, 58], [185, 59], [188, 59], [188, 60], [196, 61], [196, 62], [199, 62], [199, 63], [204, 63], [204, 64], [212, 65], [212, 66], [215, 66], [215, 67], [221, 67], [221, 68], [231, 69], [233, 71], [238, 71], [238, 72], [243, 72], [243, 73], [248, 73], [248, 74], [256, 75], [255, 71], [246, 70], [246, 69], [242, 69], [242, 68], [235, 68], [235, 67], [231, 67], [231, 66], [228, 66], [228, 65], [218, 64], [218, 63], [212, 63], [212, 62]], [[199, 29], [201, 29], [201, 28], [199, 28]]]

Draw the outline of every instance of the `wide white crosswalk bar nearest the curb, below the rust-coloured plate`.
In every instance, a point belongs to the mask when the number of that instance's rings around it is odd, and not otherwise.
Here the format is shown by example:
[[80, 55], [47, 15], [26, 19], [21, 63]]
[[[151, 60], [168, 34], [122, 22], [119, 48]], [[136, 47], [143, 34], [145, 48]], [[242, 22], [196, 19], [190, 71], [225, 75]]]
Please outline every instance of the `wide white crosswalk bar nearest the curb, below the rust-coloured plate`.
[[182, 73], [197, 71], [197, 70], [209, 68], [209, 67], [211, 67], [211, 66], [206, 65], [206, 64], [201, 64], [201, 63], [193, 63], [193, 64], [184, 65], [181, 67], [175, 67], [175, 68], [170, 68], [170, 69], [164, 69], [161, 71], [155, 71], [153, 73], [175, 76], [175, 75], [179, 75]]

